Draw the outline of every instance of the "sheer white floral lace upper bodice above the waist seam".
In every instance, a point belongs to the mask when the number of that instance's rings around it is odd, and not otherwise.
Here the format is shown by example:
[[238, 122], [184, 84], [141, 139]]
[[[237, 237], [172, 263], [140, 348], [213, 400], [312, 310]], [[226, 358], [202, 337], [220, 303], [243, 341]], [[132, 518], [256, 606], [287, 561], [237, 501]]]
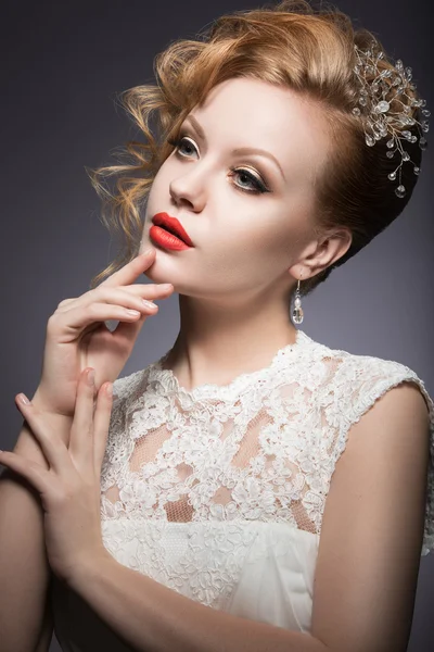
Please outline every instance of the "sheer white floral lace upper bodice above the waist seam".
[[[187, 391], [162, 368], [167, 355], [115, 381], [103, 519], [260, 521], [319, 535], [348, 429], [374, 401], [414, 380], [434, 419], [410, 368], [331, 350], [302, 330], [268, 367], [226, 386]], [[433, 516], [430, 500], [423, 554]]]

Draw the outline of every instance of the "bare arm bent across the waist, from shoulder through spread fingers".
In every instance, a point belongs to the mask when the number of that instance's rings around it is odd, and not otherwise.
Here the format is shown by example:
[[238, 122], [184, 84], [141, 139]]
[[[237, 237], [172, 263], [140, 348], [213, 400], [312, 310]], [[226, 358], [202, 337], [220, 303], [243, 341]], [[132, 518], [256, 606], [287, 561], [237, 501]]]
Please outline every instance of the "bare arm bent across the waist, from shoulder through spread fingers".
[[50, 565], [128, 645], [139, 652], [406, 652], [429, 461], [427, 411], [416, 386], [390, 390], [350, 428], [327, 498], [309, 634], [209, 609], [108, 554], [99, 476], [111, 399], [102, 386], [93, 413], [93, 397], [85, 373], [69, 450], [50, 432], [46, 414], [17, 397], [51, 468], [11, 452], [0, 463], [41, 493]]

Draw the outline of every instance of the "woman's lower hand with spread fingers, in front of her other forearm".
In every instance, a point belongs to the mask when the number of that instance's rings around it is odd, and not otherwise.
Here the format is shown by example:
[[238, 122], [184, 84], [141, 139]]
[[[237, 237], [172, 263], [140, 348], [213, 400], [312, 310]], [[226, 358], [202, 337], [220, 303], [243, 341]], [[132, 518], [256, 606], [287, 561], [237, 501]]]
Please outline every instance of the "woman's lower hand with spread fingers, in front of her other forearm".
[[101, 466], [112, 412], [113, 386], [100, 388], [93, 412], [94, 385], [88, 372], [80, 375], [69, 448], [52, 430], [49, 413], [25, 405], [17, 394], [16, 405], [28, 423], [49, 468], [14, 452], [1, 452], [0, 464], [23, 476], [39, 493], [50, 566], [68, 581], [82, 561], [108, 554], [101, 534]]

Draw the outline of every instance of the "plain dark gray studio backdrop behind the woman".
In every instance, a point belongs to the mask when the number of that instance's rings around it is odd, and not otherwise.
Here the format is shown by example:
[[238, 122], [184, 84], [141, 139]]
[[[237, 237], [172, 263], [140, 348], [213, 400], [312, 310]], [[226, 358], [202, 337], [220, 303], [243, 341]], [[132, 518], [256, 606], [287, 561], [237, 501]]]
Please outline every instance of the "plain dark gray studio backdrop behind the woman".
[[[7, 3], [8, 4], [8, 3]], [[356, 26], [413, 68], [430, 109], [432, 38], [424, 0], [336, 2]], [[9, 2], [0, 39], [5, 79], [1, 102], [1, 363], [3, 427], [11, 450], [22, 423], [14, 396], [33, 396], [46, 325], [62, 299], [89, 289], [115, 253], [85, 173], [113, 163], [111, 150], [138, 137], [115, 108], [115, 93], [153, 78], [153, 57], [247, 1], [186, 3], [65, 0]], [[5, 65], [5, 67], [4, 67]], [[427, 135], [430, 141], [430, 134]], [[431, 148], [433, 145], [431, 145]], [[409, 206], [385, 233], [334, 271], [303, 301], [303, 330], [324, 344], [401, 362], [434, 396], [433, 158], [425, 152]], [[140, 283], [148, 283], [143, 276]], [[175, 293], [145, 323], [122, 376], [165, 353], [178, 333]], [[421, 561], [409, 652], [433, 649], [434, 557]], [[431, 644], [430, 644], [431, 641]], [[60, 650], [54, 640], [52, 652]]]

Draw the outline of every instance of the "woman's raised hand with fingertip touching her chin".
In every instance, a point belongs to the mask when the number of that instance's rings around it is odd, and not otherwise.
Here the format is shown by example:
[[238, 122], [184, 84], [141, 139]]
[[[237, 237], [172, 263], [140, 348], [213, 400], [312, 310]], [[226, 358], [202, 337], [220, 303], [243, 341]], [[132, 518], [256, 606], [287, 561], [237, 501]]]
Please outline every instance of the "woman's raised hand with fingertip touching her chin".
[[[88, 366], [95, 369], [97, 391], [103, 383], [116, 380], [143, 323], [158, 310], [144, 305], [142, 299], [166, 299], [174, 291], [171, 284], [130, 285], [154, 258], [155, 249], [151, 249], [95, 289], [61, 301], [48, 321], [42, 375], [33, 397], [41, 411], [72, 417], [78, 377]], [[104, 324], [107, 319], [119, 321], [113, 333]]]

